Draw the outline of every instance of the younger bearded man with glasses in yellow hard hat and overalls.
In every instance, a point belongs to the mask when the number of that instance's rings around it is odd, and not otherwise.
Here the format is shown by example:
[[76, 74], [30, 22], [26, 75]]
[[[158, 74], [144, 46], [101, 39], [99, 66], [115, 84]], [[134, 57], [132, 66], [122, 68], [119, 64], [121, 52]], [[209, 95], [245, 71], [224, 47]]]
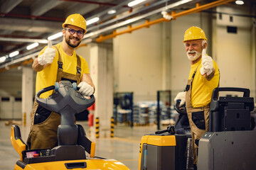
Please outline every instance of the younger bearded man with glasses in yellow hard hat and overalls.
[[[32, 68], [37, 72], [36, 93], [48, 86], [53, 86], [60, 80], [76, 82], [80, 87], [80, 94], [91, 96], [95, 86], [90, 77], [86, 60], [75, 53], [75, 47], [80, 45], [86, 33], [86, 21], [80, 14], [75, 13], [66, 18], [63, 23], [63, 40], [57, 45], [44, 47], [38, 57], [33, 61]], [[41, 94], [47, 98], [53, 94], [48, 91]], [[57, 145], [57, 130], [60, 125], [60, 115], [33, 104], [31, 131], [28, 135], [29, 149], [53, 148]]]

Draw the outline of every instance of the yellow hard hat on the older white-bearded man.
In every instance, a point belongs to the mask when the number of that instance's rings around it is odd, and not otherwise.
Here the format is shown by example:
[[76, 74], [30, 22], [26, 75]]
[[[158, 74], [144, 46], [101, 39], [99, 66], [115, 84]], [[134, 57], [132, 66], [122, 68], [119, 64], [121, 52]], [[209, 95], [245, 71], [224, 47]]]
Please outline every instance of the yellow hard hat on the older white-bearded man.
[[187, 40], [207, 40], [206, 34], [203, 32], [203, 30], [199, 27], [192, 26], [191, 28], [188, 28], [184, 34], [184, 40], [183, 42]]

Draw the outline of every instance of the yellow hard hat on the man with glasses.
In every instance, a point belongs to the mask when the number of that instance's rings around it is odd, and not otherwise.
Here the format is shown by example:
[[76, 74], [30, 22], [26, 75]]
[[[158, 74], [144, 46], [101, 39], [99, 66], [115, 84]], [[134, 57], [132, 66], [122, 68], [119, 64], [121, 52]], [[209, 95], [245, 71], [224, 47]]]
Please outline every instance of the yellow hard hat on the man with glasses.
[[81, 16], [79, 13], [74, 13], [68, 16], [68, 18], [66, 18], [65, 22], [63, 23], [63, 28], [65, 28], [65, 25], [67, 24], [72, 26], [78, 26], [84, 29], [85, 33], [87, 32], [85, 18], [83, 18], [83, 16]]

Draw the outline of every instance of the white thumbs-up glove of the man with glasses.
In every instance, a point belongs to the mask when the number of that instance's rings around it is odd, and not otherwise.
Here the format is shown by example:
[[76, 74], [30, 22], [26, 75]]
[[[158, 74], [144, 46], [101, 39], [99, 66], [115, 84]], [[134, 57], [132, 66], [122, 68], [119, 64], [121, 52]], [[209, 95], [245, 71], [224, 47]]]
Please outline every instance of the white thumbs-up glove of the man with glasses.
[[56, 50], [52, 48], [52, 42], [48, 40], [48, 47], [46, 48], [45, 52], [43, 52], [43, 55], [38, 56], [38, 64], [51, 64], [55, 57], [55, 52]]

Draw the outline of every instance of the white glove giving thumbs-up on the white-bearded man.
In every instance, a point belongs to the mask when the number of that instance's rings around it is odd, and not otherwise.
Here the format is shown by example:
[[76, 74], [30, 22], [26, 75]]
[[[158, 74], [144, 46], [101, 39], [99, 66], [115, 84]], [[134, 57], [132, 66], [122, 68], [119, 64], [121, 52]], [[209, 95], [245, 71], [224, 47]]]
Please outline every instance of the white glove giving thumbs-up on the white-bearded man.
[[213, 72], [213, 59], [206, 55], [206, 49], [202, 50], [202, 67], [200, 69], [201, 75], [206, 74], [207, 76]]

